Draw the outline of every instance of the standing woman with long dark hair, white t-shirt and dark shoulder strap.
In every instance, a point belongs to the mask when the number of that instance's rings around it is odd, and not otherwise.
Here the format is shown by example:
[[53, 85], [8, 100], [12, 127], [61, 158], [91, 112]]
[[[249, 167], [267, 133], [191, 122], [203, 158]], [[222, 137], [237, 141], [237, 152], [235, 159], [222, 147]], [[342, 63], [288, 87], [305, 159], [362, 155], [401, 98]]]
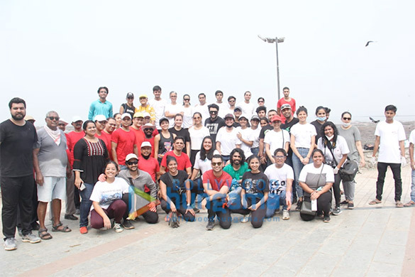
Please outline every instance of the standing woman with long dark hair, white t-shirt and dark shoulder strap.
[[349, 148], [348, 143], [343, 136], [338, 135], [336, 125], [331, 121], [327, 121], [321, 126], [321, 137], [317, 141], [317, 147], [323, 151], [326, 164], [331, 165], [334, 173], [333, 193], [336, 200], [336, 207], [333, 210], [333, 215], [341, 214], [341, 194], [340, 181], [341, 177], [338, 170], [342, 168], [343, 163], [348, 158]]

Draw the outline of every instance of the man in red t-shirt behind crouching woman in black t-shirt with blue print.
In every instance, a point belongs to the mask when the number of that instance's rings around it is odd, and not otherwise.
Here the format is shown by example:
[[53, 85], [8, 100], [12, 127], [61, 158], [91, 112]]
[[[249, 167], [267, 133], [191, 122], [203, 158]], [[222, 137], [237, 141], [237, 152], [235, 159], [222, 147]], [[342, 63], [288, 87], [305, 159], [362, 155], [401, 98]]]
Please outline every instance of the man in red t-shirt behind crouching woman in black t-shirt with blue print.
[[173, 143], [173, 150], [165, 153], [165, 156], [162, 158], [160, 163], [160, 174], [164, 174], [167, 170], [167, 156], [173, 156], [177, 160], [177, 170], [186, 170], [189, 175], [189, 179], [192, 176], [192, 163], [190, 163], [189, 156], [186, 153], [183, 153], [184, 148], [184, 138], [182, 136], [176, 136]]

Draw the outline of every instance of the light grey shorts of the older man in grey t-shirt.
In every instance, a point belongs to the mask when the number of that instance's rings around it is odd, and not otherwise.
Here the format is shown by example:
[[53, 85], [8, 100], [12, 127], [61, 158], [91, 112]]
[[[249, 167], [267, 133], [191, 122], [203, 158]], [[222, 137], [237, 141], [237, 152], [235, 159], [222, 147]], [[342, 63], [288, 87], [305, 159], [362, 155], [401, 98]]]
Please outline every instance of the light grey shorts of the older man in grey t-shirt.
[[43, 185], [38, 185], [38, 201], [48, 203], [53, 199], [66, 200], [65, 177], [43, 177]]

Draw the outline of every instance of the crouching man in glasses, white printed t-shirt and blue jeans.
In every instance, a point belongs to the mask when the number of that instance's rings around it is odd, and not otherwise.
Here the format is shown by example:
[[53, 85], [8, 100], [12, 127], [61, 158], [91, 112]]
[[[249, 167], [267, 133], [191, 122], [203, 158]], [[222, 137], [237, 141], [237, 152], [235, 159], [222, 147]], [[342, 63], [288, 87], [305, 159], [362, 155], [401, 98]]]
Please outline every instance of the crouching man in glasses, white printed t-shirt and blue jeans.
[[265, 169], [264, 174], [270, 180], [270, 193], [267, 202], [267, 212], [265, 217], [272, 217], [275, 210], [280, 209], [279, 205], [273, 203], [277, 201], [277, 195], [280, 195], [280, 205], [282, 205], [282, 219], [289, 219], [289, 210], [292, 203], [292, 183], [294, 182], [294, 171], [292, 167], [285, 163], [287, 151], [283, 148], [277, 148], [274, 151], [275, 164]]

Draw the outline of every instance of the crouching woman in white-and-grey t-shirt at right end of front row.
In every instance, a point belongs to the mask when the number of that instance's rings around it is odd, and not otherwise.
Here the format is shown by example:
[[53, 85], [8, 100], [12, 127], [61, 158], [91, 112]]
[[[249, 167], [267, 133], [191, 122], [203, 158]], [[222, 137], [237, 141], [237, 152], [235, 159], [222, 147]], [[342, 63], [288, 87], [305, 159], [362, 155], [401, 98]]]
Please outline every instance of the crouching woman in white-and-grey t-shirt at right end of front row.
[[[304, 165], [299, 175], [299, 185], [304, 190], [304, 200], [317, 200], [317, 214], [323, 214], [323, 222], [330, 222], [331, 186], [334, 183], [333, 168], [323, 163], [323, 151], [314, 149], [311, 153], [313, 163]], [[300, 211], [304, 221], [314, 219], [316, 215], [304, 214]]]

